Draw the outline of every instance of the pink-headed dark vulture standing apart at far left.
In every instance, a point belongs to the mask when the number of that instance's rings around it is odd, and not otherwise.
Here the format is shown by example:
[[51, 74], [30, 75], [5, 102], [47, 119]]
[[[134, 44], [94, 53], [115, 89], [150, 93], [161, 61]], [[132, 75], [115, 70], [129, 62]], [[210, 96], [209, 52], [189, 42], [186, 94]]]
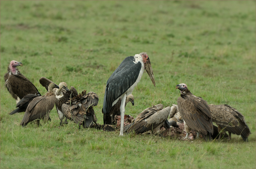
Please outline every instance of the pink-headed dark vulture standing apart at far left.
[[17, 66], [23, 66], [23, 64], [12, 60], [8, 66], [7, 73], [4, 75], [4, 85], [16, 100], [16, 104], [27, 94], [41, 96], [36, 86], [30, 82], [27, 77], [20, 73]]

